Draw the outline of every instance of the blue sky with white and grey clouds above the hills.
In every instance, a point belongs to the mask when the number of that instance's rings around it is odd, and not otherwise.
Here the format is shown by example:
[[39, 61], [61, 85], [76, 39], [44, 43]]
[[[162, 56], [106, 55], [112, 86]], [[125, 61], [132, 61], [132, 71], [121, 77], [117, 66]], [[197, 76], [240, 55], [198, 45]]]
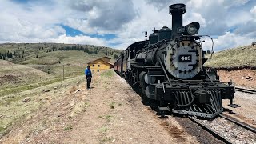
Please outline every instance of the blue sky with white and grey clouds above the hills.
[[[186, 4], [183, 25], [197, 21], [214, 50], [256, 41], [255, 0], [0, 0], [0, 43], [61, 42], [125, 49], [144, 31], [171, 28], [171, 4]], [[210, 40], [203, 45], [210, 49]]]

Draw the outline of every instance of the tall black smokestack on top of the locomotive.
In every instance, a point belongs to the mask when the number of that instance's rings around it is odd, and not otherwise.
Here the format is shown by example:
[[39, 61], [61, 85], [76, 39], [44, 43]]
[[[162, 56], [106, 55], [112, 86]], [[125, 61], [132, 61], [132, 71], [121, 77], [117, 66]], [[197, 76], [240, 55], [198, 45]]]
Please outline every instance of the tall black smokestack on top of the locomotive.
[[182, 14], [184, 13], [186, 13], [186, 6], [182, 3], [169, 6], [169, 14], [172, 14], [172, 39], [182, 36], [182, 33], [178, 33], [178, 28], [183, 26]]

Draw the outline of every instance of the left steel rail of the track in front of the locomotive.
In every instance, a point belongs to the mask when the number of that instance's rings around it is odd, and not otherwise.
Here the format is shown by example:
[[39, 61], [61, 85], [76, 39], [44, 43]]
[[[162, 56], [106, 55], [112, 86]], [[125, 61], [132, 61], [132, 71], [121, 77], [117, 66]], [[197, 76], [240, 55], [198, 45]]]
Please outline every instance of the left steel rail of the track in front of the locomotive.
[[211, 130], [210, 127], [202, 124], [202, 122], [199, 122], [196, 120], [196, 118], [192, 118], [189, 117], [190, 120], [192, 122], [195, 122], [198, 124], [198, 126], [201, 126], [202, 129], [206, 130], [207, 132], [209, 132], [210, 134], [212, 134], [215, 138], [218, 138], [219, 140], [221, 140], [222, 142], [225, 142], [226, 144], [232, 144], [232, 142], [230, 142], [228, 139], [226, 139], [225, 137], [223, 137], [221, 134], [218, 134], [217, 132], [215, 132], [214, 130]]

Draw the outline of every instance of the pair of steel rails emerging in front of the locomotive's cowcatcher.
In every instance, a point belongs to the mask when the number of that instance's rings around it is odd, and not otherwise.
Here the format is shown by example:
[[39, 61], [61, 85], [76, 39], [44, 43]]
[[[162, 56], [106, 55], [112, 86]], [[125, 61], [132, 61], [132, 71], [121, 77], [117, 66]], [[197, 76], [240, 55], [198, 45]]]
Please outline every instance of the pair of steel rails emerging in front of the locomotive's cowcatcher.
[[[229, 116], [227, 116], [226, 114], [220, 114], [219, 115], [220, 118], [224, 118], [229, 122], [234, 123], [236, 126], [242, 127], [245, 130], [250, 130], [250, 133], [252, 134], [256, 134], [256, 128], [250, 125], [247, 125], [244, 122], [239, 122], [237, 119], [231, 118]], [[198, 126], [201, 126], [202, 129], [206, 130], [207, 132], [209, 132], [210, 134], [212, 134], [215, 138], [218, 138], [219, 140], [221, 140], [222, 142], [225, 143], [234, 143], [234, 141], [232, 142], [232, 140], [230, 140], [230, 138], [227, 138], [225, 135], [223, 135], [222, 133], [220, 134], [218, 131], [214, 130], [212, 127], [210, 127], [209, 125], [207, 125], [205, 122], [202, 122], [202, 120], [199, 120], [197, 118], [194, 117], [189, 117], [190, 120], [192, 122], [195, 122], [198, 124]], [[226, 126], [229, 127], [229, 126]], [[231, 133], [231, 132], [230, 132]], [[231, 138], [232, 139], [232, 138]]]

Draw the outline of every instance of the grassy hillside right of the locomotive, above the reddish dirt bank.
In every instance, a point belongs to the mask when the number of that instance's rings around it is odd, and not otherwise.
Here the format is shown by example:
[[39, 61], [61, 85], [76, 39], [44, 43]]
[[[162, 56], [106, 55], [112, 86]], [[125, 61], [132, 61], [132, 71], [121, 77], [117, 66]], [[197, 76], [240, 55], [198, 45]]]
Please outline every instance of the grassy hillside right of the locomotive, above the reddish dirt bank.
[[242, 46], [217, 52], [213, 54], [212, 59], [206, 62], [205, 66], [216, 68], [256, 66], [256, 46]]

